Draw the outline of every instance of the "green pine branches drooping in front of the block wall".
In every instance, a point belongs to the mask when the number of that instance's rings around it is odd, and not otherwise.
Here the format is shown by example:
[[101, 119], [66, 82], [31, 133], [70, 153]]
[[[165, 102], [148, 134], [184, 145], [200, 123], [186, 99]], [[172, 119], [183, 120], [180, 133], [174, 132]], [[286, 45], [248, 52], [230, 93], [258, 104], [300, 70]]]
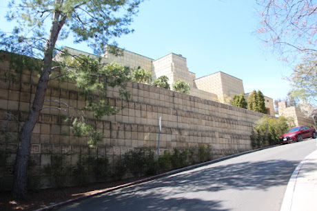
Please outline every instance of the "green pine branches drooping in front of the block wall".
[[[127, 81], [130, 81], [130, 68], [116, 63], [101, 63], [101, 58], [92, 59], [80, 55], [68, 57], [61, 66], [60, 79], [74, 82], [85, 96], [83, 108], [72, 108], [76, 111], [88, 111], [96, 119], [119, 112], [121, 108], [110, 105], [107, 101], [108, 88], [119, 87], [119, 97], [128, 100], [130, 92], [126, 90]], [[96, 130], [96, 125], [88, 123], [83, 112], [76, 112], [70, 117], [71, 128], [77, 137], [89, 137], [88, 144], [94, 146], [103, 138], [102, 132]]]

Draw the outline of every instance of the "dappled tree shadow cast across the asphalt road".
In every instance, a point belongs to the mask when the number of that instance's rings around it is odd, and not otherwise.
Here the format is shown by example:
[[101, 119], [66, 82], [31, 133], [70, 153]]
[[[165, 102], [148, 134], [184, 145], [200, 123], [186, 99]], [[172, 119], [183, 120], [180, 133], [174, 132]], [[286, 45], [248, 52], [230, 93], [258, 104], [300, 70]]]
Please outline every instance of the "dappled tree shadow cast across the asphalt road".
[[96, 209], [101, 210], [226, 210], [216, 197], [217, 192], [267, 190], [272, 186], [287, 185], [298, 163], [269, 160], [206, 165], [103, 194], [71, 207], [76, 210], [86, 210], [92, 205], [98, 205]]

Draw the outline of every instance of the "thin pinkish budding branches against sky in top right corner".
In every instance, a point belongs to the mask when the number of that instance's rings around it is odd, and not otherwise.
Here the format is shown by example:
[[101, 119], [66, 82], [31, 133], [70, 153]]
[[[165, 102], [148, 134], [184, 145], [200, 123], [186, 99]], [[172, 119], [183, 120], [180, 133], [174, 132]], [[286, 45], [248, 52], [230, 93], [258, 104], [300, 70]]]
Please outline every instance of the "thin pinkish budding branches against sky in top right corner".
[[316, 52], [317, 4], [312, 0], [257, 0], [266, 43], [281, 52]]

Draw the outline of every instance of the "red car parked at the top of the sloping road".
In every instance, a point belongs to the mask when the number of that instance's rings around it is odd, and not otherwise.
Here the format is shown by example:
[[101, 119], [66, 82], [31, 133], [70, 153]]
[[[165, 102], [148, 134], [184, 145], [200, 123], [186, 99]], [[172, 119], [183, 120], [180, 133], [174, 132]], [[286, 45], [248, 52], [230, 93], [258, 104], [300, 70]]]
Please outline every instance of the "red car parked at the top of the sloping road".
[[307, 125], [298, 126], [287, 130], [282, 137], [280, 143], [289, 143], [291, 141], [303, 141], [303, 139], [310, 138], [316, 139], [316, 129]]

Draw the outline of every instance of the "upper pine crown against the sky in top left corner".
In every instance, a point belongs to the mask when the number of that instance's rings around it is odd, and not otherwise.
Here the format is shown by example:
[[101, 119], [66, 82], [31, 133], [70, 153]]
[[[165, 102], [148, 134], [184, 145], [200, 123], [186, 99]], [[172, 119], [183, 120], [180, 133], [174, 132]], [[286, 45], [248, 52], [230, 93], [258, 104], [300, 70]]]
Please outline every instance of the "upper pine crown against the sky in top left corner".
[[75, 43], [87, 41], [95, 54], [102, 54], [105, 45], [116, 45], [115, 37], [133, 31], [128, 26], [141, 1], [10, 1], [12, 10], [7, 19], [18, 24], [9, 36], [1, 33], [2, 43], [5, 50], [42, 58], [48, 42], [57, 48], [57, 39], [65, 39], [72, 33]]

